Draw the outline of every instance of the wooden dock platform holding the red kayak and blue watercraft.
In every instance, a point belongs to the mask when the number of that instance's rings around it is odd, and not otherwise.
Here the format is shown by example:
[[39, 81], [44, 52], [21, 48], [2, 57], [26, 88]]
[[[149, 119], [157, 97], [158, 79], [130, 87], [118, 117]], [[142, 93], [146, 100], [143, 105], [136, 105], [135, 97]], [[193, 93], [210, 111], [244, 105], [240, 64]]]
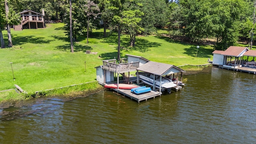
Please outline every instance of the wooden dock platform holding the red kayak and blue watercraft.
[[135, 100], [138, 103], [142, 100], [148, 100], [150, 98], [155, 98], [156, 96], [160, 96], [161, 93], [158, 91], [151, 90], [150, 92], [146, 92], [143, 94], [134, 94], [131, 90], [124, 90], [124, 89], [117, 89], [117, 88], [110, 88], [111, 90], [116, 91], [118, 94], [122, 94], [126, 97], [129, 97], [131, 100]]

